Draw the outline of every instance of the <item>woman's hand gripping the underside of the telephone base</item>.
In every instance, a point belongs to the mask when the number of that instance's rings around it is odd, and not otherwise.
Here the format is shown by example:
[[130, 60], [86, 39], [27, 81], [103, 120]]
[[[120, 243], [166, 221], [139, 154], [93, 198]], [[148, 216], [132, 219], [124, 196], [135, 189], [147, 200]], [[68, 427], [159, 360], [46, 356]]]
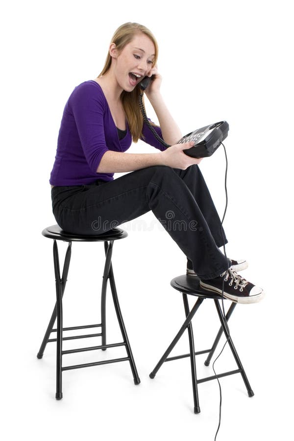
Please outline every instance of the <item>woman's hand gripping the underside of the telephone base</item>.
[[186, 170], [193, 164], [199, 164], [203, 158], [192, 158], [183, 152], [186, 148], [193, 146], [194, 141], [185, 144], [174, 144], [174, 146], [168, 147], [160, 153], [163, 165], [173, 169]]

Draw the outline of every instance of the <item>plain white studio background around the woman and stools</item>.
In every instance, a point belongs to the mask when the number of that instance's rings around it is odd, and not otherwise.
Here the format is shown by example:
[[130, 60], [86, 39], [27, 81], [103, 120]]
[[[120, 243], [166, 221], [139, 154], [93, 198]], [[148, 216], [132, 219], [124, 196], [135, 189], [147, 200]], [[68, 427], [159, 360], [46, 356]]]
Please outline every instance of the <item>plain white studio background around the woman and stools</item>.
[[[258, 304], [237, 306], [229, 322], [255, 396], [248, 398], [239, 374], [221, 379], [218, 440], [291, 437], [290, 3], [59, 0], [10, 1], [1, 8], [1, 401], [6, 440], [210, 441], [218, 426], [216, 381], [198, 386], [201, 413], [193, 413], [188, 358], [164, 364], [154, 380], [148, 376], [184, 319], [181, 294], [170, 280], [186, 268], [182, 251], [152, 212], [139, 218], [139, 224], [123, 224], [129, 236], [116, 242], [113, 252], [141, 384], [134, 386], [128, 363], [66, 371], [64, 398], [56, 401], [54, 343], [42, 360], [36, 358], [55, 302], [52, 241], [41, 231], [56, 223], [49, 174], [63, 108], [76, 85], [100, 73], [115, 29], [128, 21], [146, 25], [158, 41], [162, 95], [182, 133], [220, 120], [229, 123], [227, 254], [245, 257], [250, 264], [245, 277], [267, 293]], [[148, 102], [147, 114], [158, 122]], [[128, 150], [156, 151], [142, 142]], [[200, 167], [222, 215], [222, 147]], [[61, 242], [59, 249], [62, 263], [66, 244]], [[73, 243], [65, 326], [99, 322], [103, 254], [102, 244]], [[110, 295], [107, 308], [108, 343], [121, 341]], [[219, 327], [214, 305], [204, 302], [194, 322], [196, 350], [208, 348]], [[66, 343], [65, 349], [76, 345]], [[99, 339], [77, 344], [95, 345]], [[185, 333], [173, 354], [188, 351]], [[64, 364], [124, 354], [111, 348], [65, 356]], [[213, 375], [212, 366], [204, 368], [204, 359], [196, 359], [198, 378]], [[227, 347], [215, 368], [235, 368]]]

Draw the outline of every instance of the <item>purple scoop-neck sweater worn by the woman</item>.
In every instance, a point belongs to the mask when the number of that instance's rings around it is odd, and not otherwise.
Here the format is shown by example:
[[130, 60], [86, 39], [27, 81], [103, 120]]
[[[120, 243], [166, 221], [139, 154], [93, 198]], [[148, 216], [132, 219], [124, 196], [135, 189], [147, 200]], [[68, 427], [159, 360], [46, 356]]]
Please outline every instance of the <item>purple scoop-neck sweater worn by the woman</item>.
[[[162, 138], [159, 126], [154, 127]], [[143, 125], [145, 142], [165, 150]], [[142, 139], [142, 137], [140, 138]], [[132, 143], [126, 121], [126, 134], [120, 140], [105, 95], [94, 80], [73, 89], [61, 120], [55, 162], [49, 183], [57, 186], [91, 184], [96, 179], [112, 181], [114, 173], [97, 173], [105, 151], [126, 151]]]

